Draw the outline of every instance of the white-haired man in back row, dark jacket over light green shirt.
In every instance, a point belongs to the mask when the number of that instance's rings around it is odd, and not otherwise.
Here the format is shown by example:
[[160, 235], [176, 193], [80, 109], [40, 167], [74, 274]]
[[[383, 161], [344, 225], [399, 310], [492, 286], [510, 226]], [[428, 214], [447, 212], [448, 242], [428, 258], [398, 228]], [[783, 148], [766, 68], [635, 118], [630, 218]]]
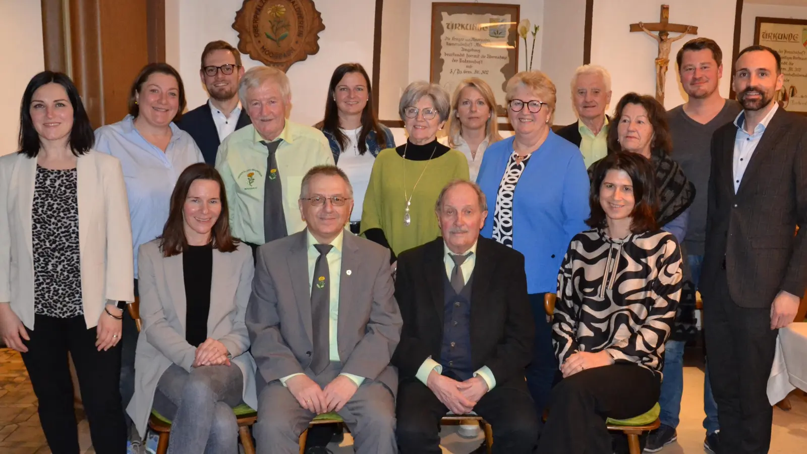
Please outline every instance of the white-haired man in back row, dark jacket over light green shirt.
[[608, 116], [611, 103], [611, 74], [598, 65], [583, 65], [571, 78], [571, 103], [578, 121], [558, 130], [558, 136], [577, 145], [586, 168], [608, 153]]

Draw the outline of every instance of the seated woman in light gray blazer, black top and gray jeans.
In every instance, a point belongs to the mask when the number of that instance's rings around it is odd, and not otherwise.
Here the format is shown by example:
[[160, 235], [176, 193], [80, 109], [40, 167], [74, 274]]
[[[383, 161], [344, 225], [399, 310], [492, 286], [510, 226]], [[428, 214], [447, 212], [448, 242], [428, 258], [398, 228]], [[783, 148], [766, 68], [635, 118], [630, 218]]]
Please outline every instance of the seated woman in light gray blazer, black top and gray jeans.
[[212, 166], [179, 175], [160, 238], [140, 246], [135, 395], [128, 414], [140, 436], [148, 414], [172, 420], [172, 454], [237, 452], [232, 407], [257, 408], [255, 362], [244, 324], [254, 266], [232, 238], [227, 197]]

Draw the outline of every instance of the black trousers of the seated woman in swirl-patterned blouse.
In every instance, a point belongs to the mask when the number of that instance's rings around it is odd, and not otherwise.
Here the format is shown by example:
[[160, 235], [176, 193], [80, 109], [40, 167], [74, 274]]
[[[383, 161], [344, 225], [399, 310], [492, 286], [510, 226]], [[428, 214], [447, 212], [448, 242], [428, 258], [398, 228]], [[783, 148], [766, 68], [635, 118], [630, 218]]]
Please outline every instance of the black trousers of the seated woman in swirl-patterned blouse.
[[550, 415], [541, 432], [538, 452], [613, 452], [605, 419], [643, 414], [659, 401], [659, 393], [659, 376], [636, 364], [585, 369], [564, 378], [552, 390]]

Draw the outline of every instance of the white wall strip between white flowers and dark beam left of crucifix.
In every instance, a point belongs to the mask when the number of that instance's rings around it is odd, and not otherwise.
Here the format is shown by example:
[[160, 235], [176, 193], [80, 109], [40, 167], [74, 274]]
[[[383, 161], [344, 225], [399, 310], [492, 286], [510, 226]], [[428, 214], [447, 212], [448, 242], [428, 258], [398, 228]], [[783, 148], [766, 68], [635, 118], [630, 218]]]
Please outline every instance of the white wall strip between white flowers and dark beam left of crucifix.
[[[601, 1], [601, 0], [600, 0]], [[579, 65], [583, 65], [586, 0], [548, 0], [544, 3], [541, 35], [546, 36], [541, 48], [541, 69], [558, 90], [554, 124], [570, 124], [577, 120], [571, 107], [569, 82]]]

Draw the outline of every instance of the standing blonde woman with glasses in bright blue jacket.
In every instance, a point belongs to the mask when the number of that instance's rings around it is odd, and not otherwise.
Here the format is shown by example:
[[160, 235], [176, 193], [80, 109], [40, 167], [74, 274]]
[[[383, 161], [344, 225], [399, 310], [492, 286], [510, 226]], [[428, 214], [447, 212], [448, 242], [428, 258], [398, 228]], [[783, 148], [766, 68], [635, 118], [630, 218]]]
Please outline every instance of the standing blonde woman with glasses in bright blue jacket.
[[482, 235], [524, 254], [535, 319], [527, 386], [543, 414], [558, 370], [543, 299], [557, 291], [571, 238], [587, 229], [589, 183], [580, 150], [552, 132], [556, 98], [550, 78], [521, 72], [508, 81], [506, 92], [515, 134], [491, 145], [479, 169], [476, 182], [493, 207]]

